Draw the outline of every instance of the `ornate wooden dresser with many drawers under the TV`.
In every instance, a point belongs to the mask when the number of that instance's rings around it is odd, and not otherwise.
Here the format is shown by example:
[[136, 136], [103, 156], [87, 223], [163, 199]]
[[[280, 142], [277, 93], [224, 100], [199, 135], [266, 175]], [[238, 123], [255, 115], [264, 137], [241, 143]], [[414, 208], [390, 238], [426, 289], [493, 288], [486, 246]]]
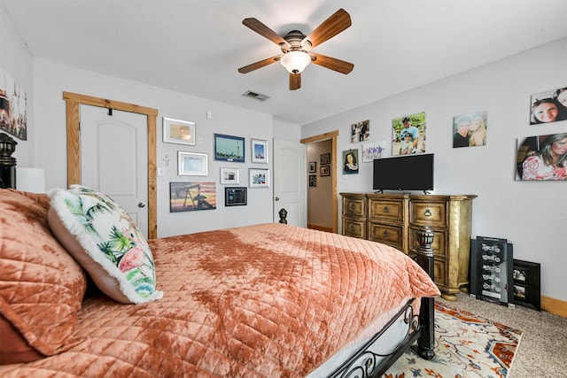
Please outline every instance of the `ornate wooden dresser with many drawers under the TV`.
[[414, 257], [416, 231], [435, 233], [435, 283], [447, 300], [467, 291], [474, 195], [340, 193], [342, 234], [392, 245]]

